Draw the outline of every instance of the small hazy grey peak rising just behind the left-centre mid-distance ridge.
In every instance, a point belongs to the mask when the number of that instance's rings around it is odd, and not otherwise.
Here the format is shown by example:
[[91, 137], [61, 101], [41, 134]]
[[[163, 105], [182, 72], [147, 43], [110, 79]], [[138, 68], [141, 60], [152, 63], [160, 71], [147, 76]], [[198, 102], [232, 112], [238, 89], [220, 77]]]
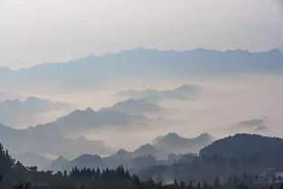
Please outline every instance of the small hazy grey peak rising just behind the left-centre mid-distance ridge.
[[156, 104], [146, 101], [145, 99], [127, 99], [125, 101], [119, 101], [106, 109], [116, 110], [127, 114], [144, 114], [165, 110]]

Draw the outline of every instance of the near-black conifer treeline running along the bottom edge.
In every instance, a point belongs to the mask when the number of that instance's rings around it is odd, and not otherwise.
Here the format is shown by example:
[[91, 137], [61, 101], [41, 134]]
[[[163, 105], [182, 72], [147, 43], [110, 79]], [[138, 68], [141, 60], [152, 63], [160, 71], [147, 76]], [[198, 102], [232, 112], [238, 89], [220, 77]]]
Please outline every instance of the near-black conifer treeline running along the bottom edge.
[[[199, 165], [200, 166], [200, 165]], [[215, 176], [215, 174], [212, 174]], [[202, 181], [184, 182], [173, 180], [169, 183], [156, 182], [153, 179], [147, 181], [140, 180], [137, 175], [130, 175], [122, 165], [116, 169], [90, 169], [73, 167], [70, 173], [58, 172], [38, 172], [36, 167], [24, 167], [21, 163], [14, 163], [8, 152], [0, 145], [0, 188], [1, 189], [222, 189], [222, 188], [279, 188], [283, 185], [279, 183], [275, 175], [272, 176], [271, 183], [266, 180], [262, 182], [259, 175], [242, 176], [232, 175], [228, 183], [222, 183], [218, 176], [212, 182], [203, 178]], [[171, 183], [171, 184], [170, 184]], [[271, 185], [271, 186], [270, 186]]]

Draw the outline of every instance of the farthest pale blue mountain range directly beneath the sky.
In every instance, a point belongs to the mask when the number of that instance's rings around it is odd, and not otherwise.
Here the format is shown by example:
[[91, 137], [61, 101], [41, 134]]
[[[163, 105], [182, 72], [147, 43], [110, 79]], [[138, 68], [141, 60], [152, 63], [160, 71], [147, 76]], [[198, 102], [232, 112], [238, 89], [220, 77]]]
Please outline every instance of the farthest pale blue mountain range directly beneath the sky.
[[[45, 63], [16, 71], [0, 68], [3, 90], [84, 91], [119, 77], [282, 73], [283, 52], [156, 51], [144, 48], [90, 55], [76, 61]], [[52, 76], [52, 77], [51, 77]], [[44, 85], [44, 89], [38, 88]], [[33, 89], [31, 89], [33, 87]]]

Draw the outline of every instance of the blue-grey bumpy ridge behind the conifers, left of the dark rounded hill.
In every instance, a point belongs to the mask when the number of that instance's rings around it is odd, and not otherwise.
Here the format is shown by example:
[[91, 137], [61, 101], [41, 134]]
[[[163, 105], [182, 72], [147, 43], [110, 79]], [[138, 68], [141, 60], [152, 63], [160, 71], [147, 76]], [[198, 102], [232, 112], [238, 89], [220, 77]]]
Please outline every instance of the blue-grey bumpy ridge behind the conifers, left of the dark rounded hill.
[[[173, 137], [174, 135], [174, 137]], [[177, 138], [178, 142], [174, 143], [171, 139]], [[179, 161], [192, 161], [196, 155], [191, 154], [195, 151], [195, 146], [199, 149], [203, 146], [207, 146], [212, 143], [211, 136], [208, 134], [203, 134], [200, 137], [195, 138], [184, 138], [179, 137], [175, 133], [169, 133], [165, 137], [158, 137], [158, 141], [164, 141], [167, 147], [163, 146], [162, 149], [158, 149], [155, 145], [142, 145], [137, 147], [136, 150], [130, 152], [125, 149], [120, 149], [118, 152], [111, 156], [101, 157], [98, 155], [85, 154], [78, 156], [73, 160], [67, 160], [60, 156], [56, 160], [52, 161], [52, 164], [45, 167], [46, 170], [53, 171], [63, 171], [71, 170], [72, 167], [77, 166], [80, 168], [90, 167], [90, 168], [113, 168], [118, 165], [124, 165], [131, 172], [139, 172], [145, 170], [146, 168], [156, 166], [156, 165], [169, 165]], [[174, 150], [175, 146], [186, 146], [186, 151], [182, 148], [182, 152]], [[190, 146], [193, 148], [191, 149]], [[174, 153], [183, 153], [175, 155]], [[175, 155], [175, 156], [174, 156]], [[169, 158], [170, 156], [170, 158]], [[174, 156], [174, 157], [173, 157]]]

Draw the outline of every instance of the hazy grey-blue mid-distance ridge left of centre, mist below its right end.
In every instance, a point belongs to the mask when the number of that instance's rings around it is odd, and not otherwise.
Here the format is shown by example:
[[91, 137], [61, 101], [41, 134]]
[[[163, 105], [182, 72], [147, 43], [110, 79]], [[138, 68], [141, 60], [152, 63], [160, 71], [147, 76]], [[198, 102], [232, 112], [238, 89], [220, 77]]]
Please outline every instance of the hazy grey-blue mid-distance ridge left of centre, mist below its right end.
[[102, 109], [94, 111], [89, 108], [74, 110], [69, 115], [57, 118], [51, 123], [38, 125], [28, 129], [33, 132], [69, 136], [79, 131], [82, 132], [95, 128], [105, 128], [109, 126], [119, 128], [127, 128], [137, 125], [146, 126], [155, 121], [157, 120], [149, 119], [142, 115], [129, 115], [117, 110]]

